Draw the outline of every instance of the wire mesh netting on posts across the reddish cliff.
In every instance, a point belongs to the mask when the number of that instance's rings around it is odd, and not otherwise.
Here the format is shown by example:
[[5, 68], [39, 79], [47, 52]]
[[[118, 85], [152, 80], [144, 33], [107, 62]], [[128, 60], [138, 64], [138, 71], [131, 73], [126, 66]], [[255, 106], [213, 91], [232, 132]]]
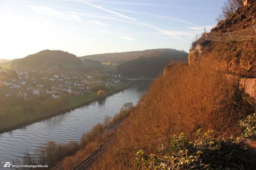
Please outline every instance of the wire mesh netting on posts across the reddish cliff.
[[227, 42], [227, 41], [244, 41], [248, 40], [251, 38], [254, 38], [256, 35], [256, 30], [255, 27], [249, 27], [244, 30], [240, 31], [234, 31], [230, 33], [203, 33], [203, 34], [198, 34], [196, 35], [197, 37], [201, 37], [203, 39], [207, 39], [210, 41], [222, 41], [222, 42]]

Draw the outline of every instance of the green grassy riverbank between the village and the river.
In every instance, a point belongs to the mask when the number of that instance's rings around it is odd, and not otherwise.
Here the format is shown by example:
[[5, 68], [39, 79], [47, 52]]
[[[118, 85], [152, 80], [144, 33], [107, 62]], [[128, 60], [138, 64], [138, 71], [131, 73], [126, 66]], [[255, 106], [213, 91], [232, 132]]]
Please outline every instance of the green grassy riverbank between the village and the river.
[[89, 94], [66, 98], [62, 101], [62, 104], [57, 107], [49, 107], [46, 104], [42, 104], [2, 114], [0, 118], [0, 133], [23, 128], [41, 120], [64, 114], [81, 106], [102, 100], [116, 92], [126, 89], [131, 86], [133, 82], [134, 81], [125, 81], [117, 86], [109, 87], [103, 98], [99, 98], [95, 92], [90, 92]]

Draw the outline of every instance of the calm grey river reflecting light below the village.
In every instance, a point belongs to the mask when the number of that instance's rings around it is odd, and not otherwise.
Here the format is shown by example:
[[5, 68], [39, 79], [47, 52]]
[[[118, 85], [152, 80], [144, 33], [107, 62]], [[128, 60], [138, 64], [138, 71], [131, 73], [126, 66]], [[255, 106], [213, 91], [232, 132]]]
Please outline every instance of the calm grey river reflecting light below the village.
[[17, 157], [22, 159], [26, 151], [35, 152], [40, 144], [49, 140], [58, 143], [79, 141], [84, 132], [91, 130], [97, 123], [103, 123], [105, 115], [113, 116], [118, 113], [124, 103], [133, 102], [135, 105], [150, 83], [151, 81], [137, 81], [102, 101], [0, 134], [0, 169], [3, 168], [2, 162], [12, 162]]

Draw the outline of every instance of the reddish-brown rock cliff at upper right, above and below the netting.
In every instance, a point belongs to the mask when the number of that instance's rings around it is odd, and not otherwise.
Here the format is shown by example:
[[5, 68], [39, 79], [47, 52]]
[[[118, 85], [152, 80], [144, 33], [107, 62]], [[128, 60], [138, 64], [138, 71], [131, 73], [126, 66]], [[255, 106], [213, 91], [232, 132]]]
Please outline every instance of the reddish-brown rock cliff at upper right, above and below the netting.
[[[255, 1], [248, 1], [246, 6], [240, 7], [227, 19], [220, 21], [211, 30], [211, 33], [228, 33], [244, 30], [249, 27], [253, 28], [255, 26], [255, 4]], [[251, 34], [253, 36], [253, 33]], [[243, 77], [240, 81], [240, 89], [244, 89], [251, 98], [256, 99], [255, 36], [244, 41], [229, 42], [208, 41], [205, 40], [205, 37], [201, 37], [192, 43], [188, 54], [188, 63], [193, 65], [193, 63], [201, 58], [213, 57], [218, 59], [218, 61], [223, 63], [223, 70], [227, 70], [230, 75]]]

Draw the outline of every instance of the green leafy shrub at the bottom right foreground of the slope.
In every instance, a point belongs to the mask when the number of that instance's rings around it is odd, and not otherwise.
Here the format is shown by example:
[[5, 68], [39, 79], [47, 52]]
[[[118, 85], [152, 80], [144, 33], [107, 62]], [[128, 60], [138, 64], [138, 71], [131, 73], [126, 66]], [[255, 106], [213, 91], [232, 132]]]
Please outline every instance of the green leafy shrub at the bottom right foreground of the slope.
[[170, 139], [155, 154], [147, 157], [140, 150], [134, 161], [138, 169], [243, 169], [244, 145], [237, 139], [214, 138], [211, 130], [197, 131], [198, 139], [190, 141], [184, 134]]

